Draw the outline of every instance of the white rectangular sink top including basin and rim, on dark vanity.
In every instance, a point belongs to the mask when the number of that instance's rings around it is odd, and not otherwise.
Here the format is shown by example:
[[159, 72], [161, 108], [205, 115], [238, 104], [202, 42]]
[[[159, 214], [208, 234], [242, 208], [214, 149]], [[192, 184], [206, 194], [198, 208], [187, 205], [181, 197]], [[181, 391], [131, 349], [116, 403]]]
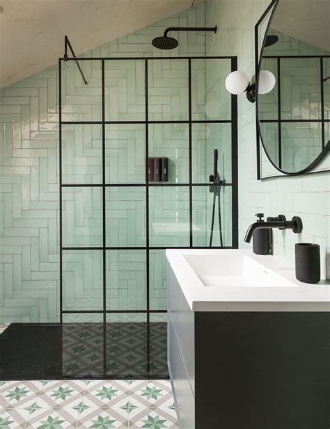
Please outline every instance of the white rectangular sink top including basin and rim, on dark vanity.
[[330, 282], [298, 282], [280, 257], [232, 249], [167, 249], [166, 257], [168, 281], [192, 311], [330, 311]]

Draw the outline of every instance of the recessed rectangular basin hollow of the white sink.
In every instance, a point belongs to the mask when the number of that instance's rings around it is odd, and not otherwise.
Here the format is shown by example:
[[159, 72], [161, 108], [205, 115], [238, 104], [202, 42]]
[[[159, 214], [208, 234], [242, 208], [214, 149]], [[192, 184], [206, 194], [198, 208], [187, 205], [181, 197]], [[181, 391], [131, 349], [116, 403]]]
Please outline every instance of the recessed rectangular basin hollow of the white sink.
[[212, 287], [297, 287], [284, 277], [267, 270], [244, 253], [184, 254], [204, 286]]

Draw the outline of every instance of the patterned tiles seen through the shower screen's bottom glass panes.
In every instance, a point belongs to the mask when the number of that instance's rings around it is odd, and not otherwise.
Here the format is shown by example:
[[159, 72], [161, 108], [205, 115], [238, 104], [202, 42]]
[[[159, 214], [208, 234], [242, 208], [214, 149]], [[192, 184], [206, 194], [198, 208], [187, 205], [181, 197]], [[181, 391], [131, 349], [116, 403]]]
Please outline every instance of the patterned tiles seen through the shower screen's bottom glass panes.
[[107, 377], [166, 378], [166, 323], [150, 323], [149, 369], [147, 332], [146, 323], [107, 323], [105, 327], [103, 323], [63, 324], [63, 375], [102, 377], [105, 347]]

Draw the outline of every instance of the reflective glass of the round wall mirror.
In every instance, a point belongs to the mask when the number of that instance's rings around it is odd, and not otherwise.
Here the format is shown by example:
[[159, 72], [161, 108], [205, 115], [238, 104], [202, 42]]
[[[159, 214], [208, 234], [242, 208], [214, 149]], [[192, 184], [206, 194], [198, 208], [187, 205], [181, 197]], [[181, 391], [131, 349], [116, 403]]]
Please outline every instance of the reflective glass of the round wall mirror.
[[285, 174], [307, 172], [329, 156], [329, 29], [329, 0], [274, 1], [258, 66], [257, 115], [268, 159]]

